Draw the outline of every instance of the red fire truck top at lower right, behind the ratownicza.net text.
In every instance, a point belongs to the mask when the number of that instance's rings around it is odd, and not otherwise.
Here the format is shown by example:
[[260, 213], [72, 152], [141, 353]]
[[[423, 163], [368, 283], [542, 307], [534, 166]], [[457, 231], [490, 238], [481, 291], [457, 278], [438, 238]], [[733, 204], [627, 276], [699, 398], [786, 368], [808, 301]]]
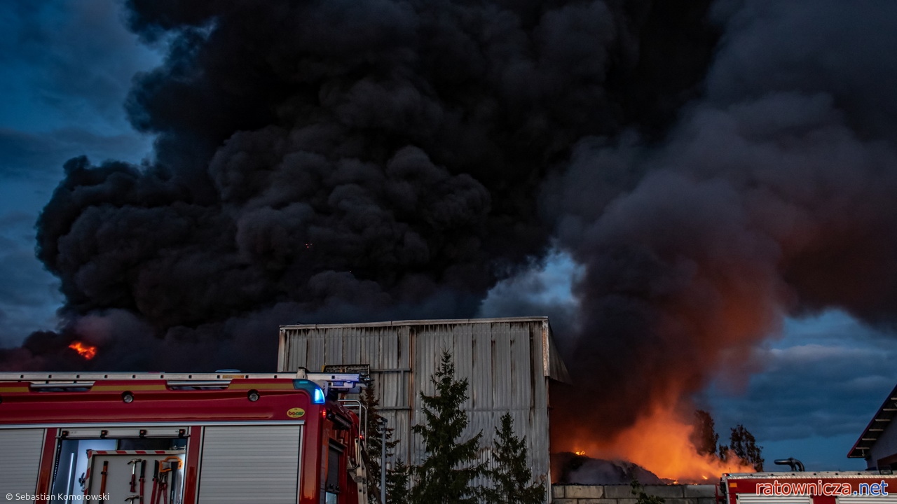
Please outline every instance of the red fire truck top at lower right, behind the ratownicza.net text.
[[897, 476], [855, 471], [723, 474], [721, 504], [897, 504]]

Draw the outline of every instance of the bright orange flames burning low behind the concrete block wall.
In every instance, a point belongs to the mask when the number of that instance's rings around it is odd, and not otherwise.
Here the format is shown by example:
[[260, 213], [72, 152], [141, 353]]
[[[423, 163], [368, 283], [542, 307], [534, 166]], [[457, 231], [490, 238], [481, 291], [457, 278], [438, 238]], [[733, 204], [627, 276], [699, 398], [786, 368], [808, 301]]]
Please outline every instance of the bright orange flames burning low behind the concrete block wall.
[[674, 482], [705, 482], [723, 473], [753, 473], [740, 459], [722, 462], [702, 456], [692, 446], [693, 427], [671, 410], [655, 409], [609, 441], [577, 440], [571, 451], [597, 458], [638, 464], [658, 477]]

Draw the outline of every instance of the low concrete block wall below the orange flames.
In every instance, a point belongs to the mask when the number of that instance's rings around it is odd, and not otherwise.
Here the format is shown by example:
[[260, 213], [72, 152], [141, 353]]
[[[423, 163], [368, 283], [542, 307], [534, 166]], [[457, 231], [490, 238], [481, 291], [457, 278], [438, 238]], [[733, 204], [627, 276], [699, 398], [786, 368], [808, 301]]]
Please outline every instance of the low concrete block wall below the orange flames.
[[[716, 504], [716, 485], [645, 485], [665, 504]], [[552, 485], [553, 504], [635, 504], [630, 485]]]

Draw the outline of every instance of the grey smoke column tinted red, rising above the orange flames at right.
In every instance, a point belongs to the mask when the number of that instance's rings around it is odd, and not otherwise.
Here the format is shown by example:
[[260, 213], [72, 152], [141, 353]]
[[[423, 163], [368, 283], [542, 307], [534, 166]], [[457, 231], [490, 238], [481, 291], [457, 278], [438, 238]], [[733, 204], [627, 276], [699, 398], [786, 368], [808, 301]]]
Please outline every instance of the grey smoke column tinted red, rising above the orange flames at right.
[[576, 425], [558, 415], [555, 432], [620, 430], [718, 372], [750, 370], [786, 314], [840, 307], [893, 332], [897, 65], [885, 55], [897, 6], [724, 2], [715, 14], [725, 34], [705, 96], [665, 143], [583, 141], [544, 194], [587, 272], [570, 363], [595, 385], [565, 404], [601, 405]]

